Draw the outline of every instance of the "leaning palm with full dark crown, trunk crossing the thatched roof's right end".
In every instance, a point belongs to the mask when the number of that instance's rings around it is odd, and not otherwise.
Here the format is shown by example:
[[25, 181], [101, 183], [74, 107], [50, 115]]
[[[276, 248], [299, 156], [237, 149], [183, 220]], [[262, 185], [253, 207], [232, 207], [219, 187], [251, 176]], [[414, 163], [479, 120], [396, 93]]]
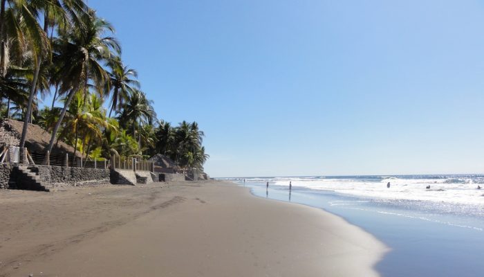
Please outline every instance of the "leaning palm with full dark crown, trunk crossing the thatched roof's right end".
[[95, 11], [89, 10], [83, 15], [82, 22], [85, 28], [72, 28], [66, 33], [61, 32], [59, 39], [54, 42], [55, 59], [59, 64], [59, 71], [55, 73], [54, 78], [59, 80], [59, 91], [67, 95], [47, 151], [53, 148], [57, 130], [75, 93], [81, 91], [85, 98], [89, 80], [100, 90], [109, 79], [101, 63], [108, 62], [113, 55], [121, 51], [118, 41], [105, 35], [114, 32], [113, 26], [104, 19], [95, 17]]

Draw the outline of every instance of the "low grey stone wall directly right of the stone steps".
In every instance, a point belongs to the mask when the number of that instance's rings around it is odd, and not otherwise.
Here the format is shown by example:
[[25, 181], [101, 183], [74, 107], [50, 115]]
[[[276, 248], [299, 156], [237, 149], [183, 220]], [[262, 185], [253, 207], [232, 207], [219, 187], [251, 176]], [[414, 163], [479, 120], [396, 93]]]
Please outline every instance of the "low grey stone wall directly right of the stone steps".
[[109, 170], [95, 168], [73, 168], [64, 166], [32, 166], [49, 186], [96, 186], [109, 184]]

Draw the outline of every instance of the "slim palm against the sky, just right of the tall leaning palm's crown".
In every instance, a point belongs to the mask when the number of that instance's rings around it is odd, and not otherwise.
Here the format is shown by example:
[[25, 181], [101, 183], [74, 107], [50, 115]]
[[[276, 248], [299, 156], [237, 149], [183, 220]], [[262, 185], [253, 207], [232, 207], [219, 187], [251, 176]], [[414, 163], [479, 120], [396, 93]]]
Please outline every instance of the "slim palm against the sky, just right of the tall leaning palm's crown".
[[[122, 108], [130, 93], [133, 93], [135, 89], [140, 89], [140, 82], [130, 79], [131, 76], [138, 78], [138, 72], [134, 69], [129, 69], [128, 66], [124, 66], [120, 57], [115, 57], [108, 65], [111, 68], [109, 83], [113, 89], [111, 109], [109, 111], [109, 117], [111, 117], [113, 111], [119, 111]], [[106, 91], [109, 94], [109, 86], [106, 87]]]

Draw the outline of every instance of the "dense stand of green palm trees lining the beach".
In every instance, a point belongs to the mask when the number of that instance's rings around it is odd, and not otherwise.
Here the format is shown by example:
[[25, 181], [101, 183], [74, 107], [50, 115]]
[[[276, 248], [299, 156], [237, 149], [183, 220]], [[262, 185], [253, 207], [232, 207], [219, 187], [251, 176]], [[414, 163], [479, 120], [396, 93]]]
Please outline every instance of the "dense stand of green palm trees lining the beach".
[[[87, 159], [160, 153], [203, 169], [198, 124], [156, 118], [113, 26], [85, 0], [0, 0], [0, 42], [0, 114], [24, 121], [21, 147], [35, 123], [52, 132], [46, 151], [62, 140]], [[41, 109], [47, 95], [52, 105]]]

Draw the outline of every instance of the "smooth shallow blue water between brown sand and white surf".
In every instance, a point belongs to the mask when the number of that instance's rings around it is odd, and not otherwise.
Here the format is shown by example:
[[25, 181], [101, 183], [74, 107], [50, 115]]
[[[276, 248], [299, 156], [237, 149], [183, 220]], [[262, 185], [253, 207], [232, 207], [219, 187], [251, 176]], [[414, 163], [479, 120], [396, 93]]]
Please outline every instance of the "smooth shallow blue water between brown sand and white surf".
[[[391, 251], [375, 269], [382, 276], [480, 276], [483, 213], [474, 206], [381, 200], [335, 191], [248, 182], [257, 197], [321, 208], [371, 233]], [[291, 197], [292, 195], [292, 197]], [[454, 206], [453, 206], [454, 205]]]

